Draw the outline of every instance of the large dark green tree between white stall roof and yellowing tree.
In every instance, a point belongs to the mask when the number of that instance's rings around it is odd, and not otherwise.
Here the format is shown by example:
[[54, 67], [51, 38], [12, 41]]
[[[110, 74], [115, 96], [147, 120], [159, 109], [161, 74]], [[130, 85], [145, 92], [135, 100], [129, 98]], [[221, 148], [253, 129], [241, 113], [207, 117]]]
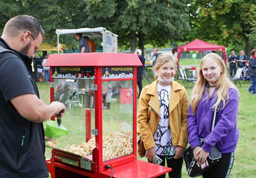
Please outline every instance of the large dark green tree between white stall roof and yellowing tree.
[[[183, 39], [189, 31], [186, 0], [87, 0], [88, 18], [84, 26], [103, 26], [118, 34], [118, 43], [130, 42], [135, 51], [136, 39], [144, 51], [144, 42], [163, 44]], [[129, 44], [128, 42], [128, 44]]]

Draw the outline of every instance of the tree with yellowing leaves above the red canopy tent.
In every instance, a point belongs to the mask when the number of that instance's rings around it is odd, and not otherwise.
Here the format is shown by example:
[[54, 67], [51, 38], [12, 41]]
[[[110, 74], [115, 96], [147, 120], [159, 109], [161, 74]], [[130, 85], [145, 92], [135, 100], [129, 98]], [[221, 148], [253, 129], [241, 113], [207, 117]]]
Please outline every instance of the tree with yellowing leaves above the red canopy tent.
[[249, 56], [252, 49], [249, 37], [256, 18], [252, 0], [193, 0], [191, 25], [195, 36], [215, 40], [221, 45], [245, 49]]

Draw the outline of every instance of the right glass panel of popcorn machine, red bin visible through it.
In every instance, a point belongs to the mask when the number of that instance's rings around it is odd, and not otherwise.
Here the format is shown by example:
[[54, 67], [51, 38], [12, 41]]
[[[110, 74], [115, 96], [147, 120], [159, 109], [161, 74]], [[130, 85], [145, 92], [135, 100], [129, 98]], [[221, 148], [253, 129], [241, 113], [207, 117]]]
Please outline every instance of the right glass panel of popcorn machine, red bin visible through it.
[[133, 81], [102, 82], [103, 161], [133, 154]]

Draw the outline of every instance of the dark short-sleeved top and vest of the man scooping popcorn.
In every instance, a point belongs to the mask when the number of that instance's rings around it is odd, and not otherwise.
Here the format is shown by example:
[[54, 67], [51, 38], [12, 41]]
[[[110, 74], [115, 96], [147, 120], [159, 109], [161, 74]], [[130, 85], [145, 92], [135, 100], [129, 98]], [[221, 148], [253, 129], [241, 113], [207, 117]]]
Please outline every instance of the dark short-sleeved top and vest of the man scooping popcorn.
[[[3, 52], [5, 49], [12, 52]], [[2, 52], [2, 53], [1, 53]], [[42, 123], [22, 117], [10, 99], [23, 94], [39, 97], [31, 58], [11, 49], [0, 38], [0, 177], [49, 177]]]

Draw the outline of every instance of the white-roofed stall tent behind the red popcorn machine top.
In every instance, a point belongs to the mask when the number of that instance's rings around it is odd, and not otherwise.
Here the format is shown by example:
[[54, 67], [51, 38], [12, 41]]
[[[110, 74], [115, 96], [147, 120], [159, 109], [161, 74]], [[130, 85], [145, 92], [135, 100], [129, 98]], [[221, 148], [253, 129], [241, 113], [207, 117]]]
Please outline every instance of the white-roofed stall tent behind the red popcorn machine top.
[[59, 36], [73, 35], [76, 33], [83, 33], [90, 39], [102, 39], [103, 53], [117, 53], [118, 52], [118, 35], [106, 30], [106, 28], [78, 28], [78, 29], [57, 29], [55, 31], [58, 38], [58, 53], [60, 50]]

